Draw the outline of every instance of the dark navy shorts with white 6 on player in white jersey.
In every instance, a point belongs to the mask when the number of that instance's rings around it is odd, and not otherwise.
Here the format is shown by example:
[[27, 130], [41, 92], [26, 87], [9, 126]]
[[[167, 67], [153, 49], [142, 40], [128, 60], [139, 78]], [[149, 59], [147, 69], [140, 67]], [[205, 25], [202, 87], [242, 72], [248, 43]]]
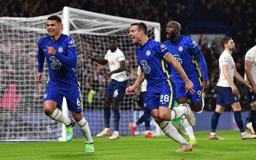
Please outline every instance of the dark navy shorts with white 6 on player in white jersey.
[[124, 99], [126, 87], [127, 80], [119, 82], [112, 79], [106, 88], [105, 96], [122, 101]]

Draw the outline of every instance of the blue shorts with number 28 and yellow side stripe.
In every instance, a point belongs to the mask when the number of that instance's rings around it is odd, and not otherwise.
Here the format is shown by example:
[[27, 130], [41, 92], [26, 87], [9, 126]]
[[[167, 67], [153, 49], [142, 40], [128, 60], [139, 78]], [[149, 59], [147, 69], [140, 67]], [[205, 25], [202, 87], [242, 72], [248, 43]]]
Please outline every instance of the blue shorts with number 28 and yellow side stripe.
[[154, 86], [147, 86], [146, 105], [147, 111], [167, 107], [172, 109], [176, 100], [176, 87], [171, 80], [165, 80], [164, 83]]

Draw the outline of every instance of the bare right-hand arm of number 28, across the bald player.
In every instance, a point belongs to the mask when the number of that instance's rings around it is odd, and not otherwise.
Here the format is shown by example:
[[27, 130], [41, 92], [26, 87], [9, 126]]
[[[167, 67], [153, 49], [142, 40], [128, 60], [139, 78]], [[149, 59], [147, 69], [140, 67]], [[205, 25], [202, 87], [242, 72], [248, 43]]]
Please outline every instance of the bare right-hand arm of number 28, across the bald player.
[[181, 78], [185, 81], [186, 92], [190, 91], [192, 94], [195, 93], [195, 91], [193, 90], [192, 81], [189, 80], [188, 76], [182, 69], [181, 65], [175, 60], [175, 58], [171, 54], [167, 54], [164, 59], [174, 66]]

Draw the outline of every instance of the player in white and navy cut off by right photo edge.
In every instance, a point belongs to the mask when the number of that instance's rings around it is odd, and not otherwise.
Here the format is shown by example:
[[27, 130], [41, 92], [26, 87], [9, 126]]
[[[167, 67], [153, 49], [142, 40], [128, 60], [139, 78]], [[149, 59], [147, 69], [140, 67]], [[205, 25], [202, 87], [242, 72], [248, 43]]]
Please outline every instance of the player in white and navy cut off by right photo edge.
[[[255, 39], [256, 40], [256, 39]], [[251, 103], [251, 122], [246, 124], [246, 127], [250, 130], [251, 134], [255, 134], [256, 131], [256, 46], [252, 47], [245, 54], [244, 63], [244, 80], [252, 86], [253, 92], [245, 88], [245, 94], [247, 101]]]

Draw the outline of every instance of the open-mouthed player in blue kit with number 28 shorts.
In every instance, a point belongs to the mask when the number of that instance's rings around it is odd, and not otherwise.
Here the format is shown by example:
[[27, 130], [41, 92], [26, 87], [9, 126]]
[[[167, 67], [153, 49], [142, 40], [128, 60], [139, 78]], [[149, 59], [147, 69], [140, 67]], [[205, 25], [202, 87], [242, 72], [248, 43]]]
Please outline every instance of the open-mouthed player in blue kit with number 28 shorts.
[[[168, 49], [161, 43], [147, 37], [148, 27], [145, 23], [132, 23], [129, 36], [132, 43], [138, 43], [136, 56], [141, 67], [141, 72], [134, 84], [126, 88], [127, 94], [132, 94], [146, 78], [147, 80], [147, 111], [151, 113], [155, 122], [159, 125], [166, 136], [180, 143], [176, 151], [192, 151], [192, 147], [178, 133], [168, 121], [186, 114], [190, 124], [195, 125], [195, 117], [188, 104], [173, 109], [176, 92], [175, 85], [170, 79], [167, 62], [172, 64], [182, 79], [185, 81], [186, 91], [193, 94], [193, 83], [188, 79], [180, 64], [169, 54]], [[167, 62], [166, 62], [167, 61]], [[171, 110], [171, 112], [170, 112]]]

